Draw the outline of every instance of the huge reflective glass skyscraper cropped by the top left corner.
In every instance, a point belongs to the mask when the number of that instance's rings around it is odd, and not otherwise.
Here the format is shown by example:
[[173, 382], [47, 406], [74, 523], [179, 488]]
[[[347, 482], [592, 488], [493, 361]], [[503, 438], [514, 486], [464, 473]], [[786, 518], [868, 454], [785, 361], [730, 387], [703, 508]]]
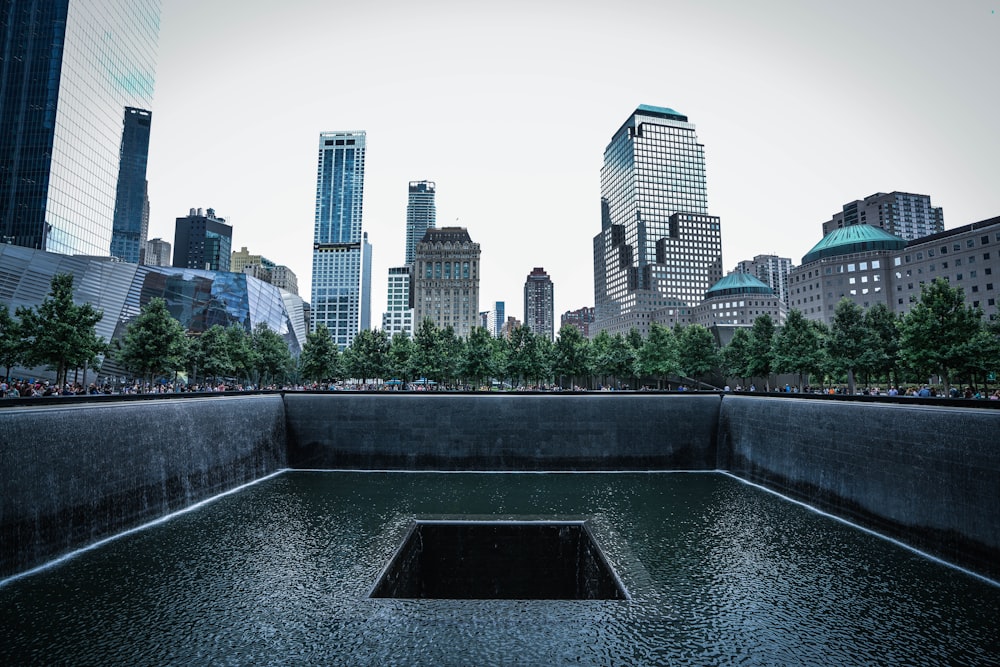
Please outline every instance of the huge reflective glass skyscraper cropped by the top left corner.
[[153, 101], [159, 0], [0, 8], [0, 242], [108, 256], [122, 111]]

